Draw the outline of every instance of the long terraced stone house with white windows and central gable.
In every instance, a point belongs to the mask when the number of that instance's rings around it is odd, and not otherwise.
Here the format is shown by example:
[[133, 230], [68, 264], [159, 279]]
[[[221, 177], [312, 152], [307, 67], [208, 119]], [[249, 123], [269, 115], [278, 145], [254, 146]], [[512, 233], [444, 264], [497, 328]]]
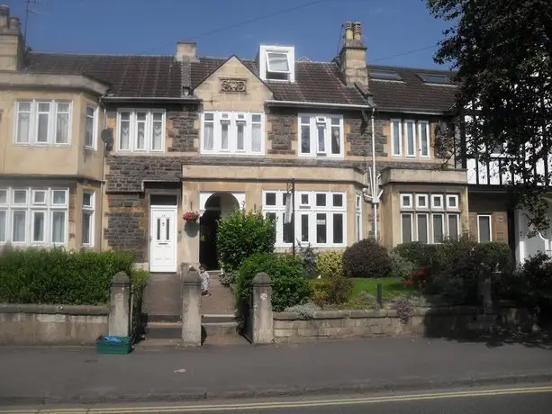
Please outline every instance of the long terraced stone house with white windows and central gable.
[[2, 7], [0, 243], [218, 268], [217, 220], [237, 208], [274, 217], [278, 249], [508, 240], [493, 195], [471, 207], [466, 157], [439, 149], [453, 76], [366, 66], [360, 23], [326, 62], [272, 44], [255, 58], [206, 58], [191, 42], [174, 56], [40, 53]]

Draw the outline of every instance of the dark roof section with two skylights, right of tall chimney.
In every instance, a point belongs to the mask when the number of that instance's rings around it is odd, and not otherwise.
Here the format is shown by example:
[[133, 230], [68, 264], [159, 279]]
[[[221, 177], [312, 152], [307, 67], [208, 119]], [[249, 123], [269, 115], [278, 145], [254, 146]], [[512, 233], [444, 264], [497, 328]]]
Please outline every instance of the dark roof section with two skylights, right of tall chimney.
[[454, 104], [457, 87], [425, 84], [417, 74], [454, 77], [455, 72], [368, 65], [368, 72], [370, 70], [397, 72], [403, 78], [402, 82], [369, 80], [369, 89], [379, 110], [447, 112]]

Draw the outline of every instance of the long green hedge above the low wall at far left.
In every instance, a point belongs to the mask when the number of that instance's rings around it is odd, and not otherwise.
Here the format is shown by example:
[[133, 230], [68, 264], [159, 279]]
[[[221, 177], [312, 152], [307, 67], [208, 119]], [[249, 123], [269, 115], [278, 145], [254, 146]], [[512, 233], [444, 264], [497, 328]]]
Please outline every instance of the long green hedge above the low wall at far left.
[[104, 305], [109, 283], [126, 272], [134, 285], [147, 275], [134, 271], [133, 255], [64, 249], [6, 249], [0, 254], [0, 302]]

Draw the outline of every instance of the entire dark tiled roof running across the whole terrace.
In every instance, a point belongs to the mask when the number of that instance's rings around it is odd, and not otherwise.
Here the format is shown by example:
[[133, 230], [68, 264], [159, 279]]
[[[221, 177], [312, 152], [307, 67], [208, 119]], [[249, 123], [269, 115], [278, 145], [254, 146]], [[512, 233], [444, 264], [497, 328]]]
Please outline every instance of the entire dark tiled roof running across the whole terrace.
[[[221, 67], [228, 58], [199, 58], [182, 63], [173, 56], [77, 55], [29, 52], [24, 70], [30, 73], [87, 75], [110, 85], [109, 93], [118, 97], [182, 96], [182, 86], [192, 88]], [[258, 75], [257, 63], [241, 59]], [[454, 103], [456, 89], [450, 85], [424, 84], [417, 73], [451, 72], [369, 65], [368, 70], [396, 71], [403, 82], [371, 79], [369, 92], [381, 111], [447, 112]], [[266, 82], [274, 99], [294, 102], [345, 103], [366, 105], [356, 87], [345, 85], [339, 67], [333, 62], [295, 62], [295, 83]]]

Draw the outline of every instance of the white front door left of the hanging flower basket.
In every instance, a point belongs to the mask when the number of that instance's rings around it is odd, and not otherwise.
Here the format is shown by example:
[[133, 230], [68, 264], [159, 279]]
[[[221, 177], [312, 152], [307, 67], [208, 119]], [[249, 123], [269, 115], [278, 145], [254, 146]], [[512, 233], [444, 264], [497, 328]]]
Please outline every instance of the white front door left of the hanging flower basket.
[[150, 211], [149, 271], [176, 272], [176, 208]]

